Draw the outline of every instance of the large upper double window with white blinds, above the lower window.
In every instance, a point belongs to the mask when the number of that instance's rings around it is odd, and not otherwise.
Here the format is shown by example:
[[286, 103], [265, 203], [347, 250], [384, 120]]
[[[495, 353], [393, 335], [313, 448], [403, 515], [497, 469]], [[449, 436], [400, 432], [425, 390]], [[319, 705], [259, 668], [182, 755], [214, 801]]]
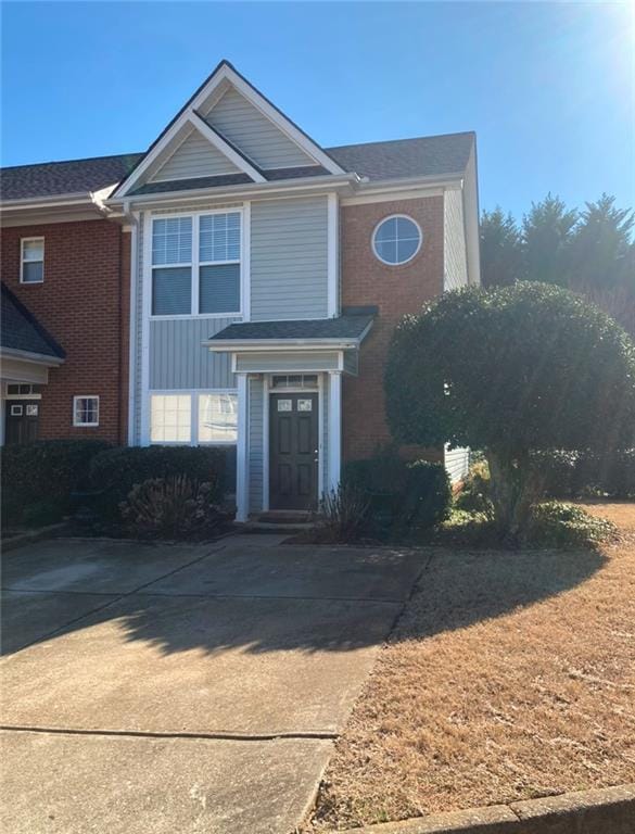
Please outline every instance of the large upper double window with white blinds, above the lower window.
[[152, 314], [240, 313], [240, 212], [155, 218]]

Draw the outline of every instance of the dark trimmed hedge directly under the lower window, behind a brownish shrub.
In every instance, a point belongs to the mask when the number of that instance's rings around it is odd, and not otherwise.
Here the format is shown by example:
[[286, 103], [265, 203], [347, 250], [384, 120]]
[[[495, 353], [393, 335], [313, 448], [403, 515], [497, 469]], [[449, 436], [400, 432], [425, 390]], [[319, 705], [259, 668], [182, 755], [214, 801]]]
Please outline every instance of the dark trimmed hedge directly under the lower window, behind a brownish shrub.
[[177, 475], [209, 484], [209, 498], [217, 504], [225, 492], [225, 450], [217, 446], [118, 446], [102, 452], [90, 466], [91, 484], [102, 491], [96, 509], [114, 520], [136, 484]]

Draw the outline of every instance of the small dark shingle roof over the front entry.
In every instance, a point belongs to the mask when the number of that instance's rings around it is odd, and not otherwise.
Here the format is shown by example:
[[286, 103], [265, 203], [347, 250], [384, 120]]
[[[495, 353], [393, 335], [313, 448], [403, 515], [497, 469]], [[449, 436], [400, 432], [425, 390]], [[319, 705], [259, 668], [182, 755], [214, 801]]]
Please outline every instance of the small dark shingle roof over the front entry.
[[251, 339], [360, 339], [372, 316], [339, 316], [292, 321], [244, 321], [229, 325], [209, 341]]

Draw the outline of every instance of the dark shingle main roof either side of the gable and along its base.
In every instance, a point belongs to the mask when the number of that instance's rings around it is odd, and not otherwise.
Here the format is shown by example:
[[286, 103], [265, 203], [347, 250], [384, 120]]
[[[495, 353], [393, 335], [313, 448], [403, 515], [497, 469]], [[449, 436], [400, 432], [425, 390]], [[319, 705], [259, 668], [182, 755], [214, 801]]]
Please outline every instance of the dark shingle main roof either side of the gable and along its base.
[[[347, 172], [354, 172], [371, 180], [414, 176], [443, 176], [465, 170], [474, 142], [474, 134], [446, 134], [416, 139], [396, 139], [388, 142], [344, 144], [325, 148], [335, 162]], [[122, 180], [144, 154], [131, 153], [119, 156], [99, 156], [92, 160], [47, 162], [38, 165], [18, 165], [0, 168], [0, 195], [2, 200], [20, 200], [38, 197], [55, 197], [77, 192], [99, 191]], [[320, 166], [287, 168], [264, 172], [268, 179], [289, 176], [325, 174]], [[243, 175], [236, 175], [243, 176]], [[186, 188], [204, 187], [202, 179], [185, 180]], [[220, 177], [218, 179], [225, 179]], [[241, 180], [242, 181], [242, 180]], [[249, 179], [244, 181], [250, 181]], [[173, 190], [175, 184], [142, 186], [135, 193], [156, 193]], [[214, 184], [216, 185], [216, 184]], [[218, 182], [217, 185], [227, 185]], [[231, 184], [230, 184], [231, 185]], [[161, 187], [161, 188], [160, 188]], [[143, 190], [143, 189], [152, 189]]]

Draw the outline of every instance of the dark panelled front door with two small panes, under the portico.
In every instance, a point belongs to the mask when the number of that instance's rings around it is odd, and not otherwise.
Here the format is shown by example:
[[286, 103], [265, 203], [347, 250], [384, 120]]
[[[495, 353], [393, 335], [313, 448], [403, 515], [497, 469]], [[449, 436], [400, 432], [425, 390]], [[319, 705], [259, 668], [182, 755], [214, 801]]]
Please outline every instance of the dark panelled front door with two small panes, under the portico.
[[315, 509], [318, 477], [318, 395], [269, 397], [269, 506]]

